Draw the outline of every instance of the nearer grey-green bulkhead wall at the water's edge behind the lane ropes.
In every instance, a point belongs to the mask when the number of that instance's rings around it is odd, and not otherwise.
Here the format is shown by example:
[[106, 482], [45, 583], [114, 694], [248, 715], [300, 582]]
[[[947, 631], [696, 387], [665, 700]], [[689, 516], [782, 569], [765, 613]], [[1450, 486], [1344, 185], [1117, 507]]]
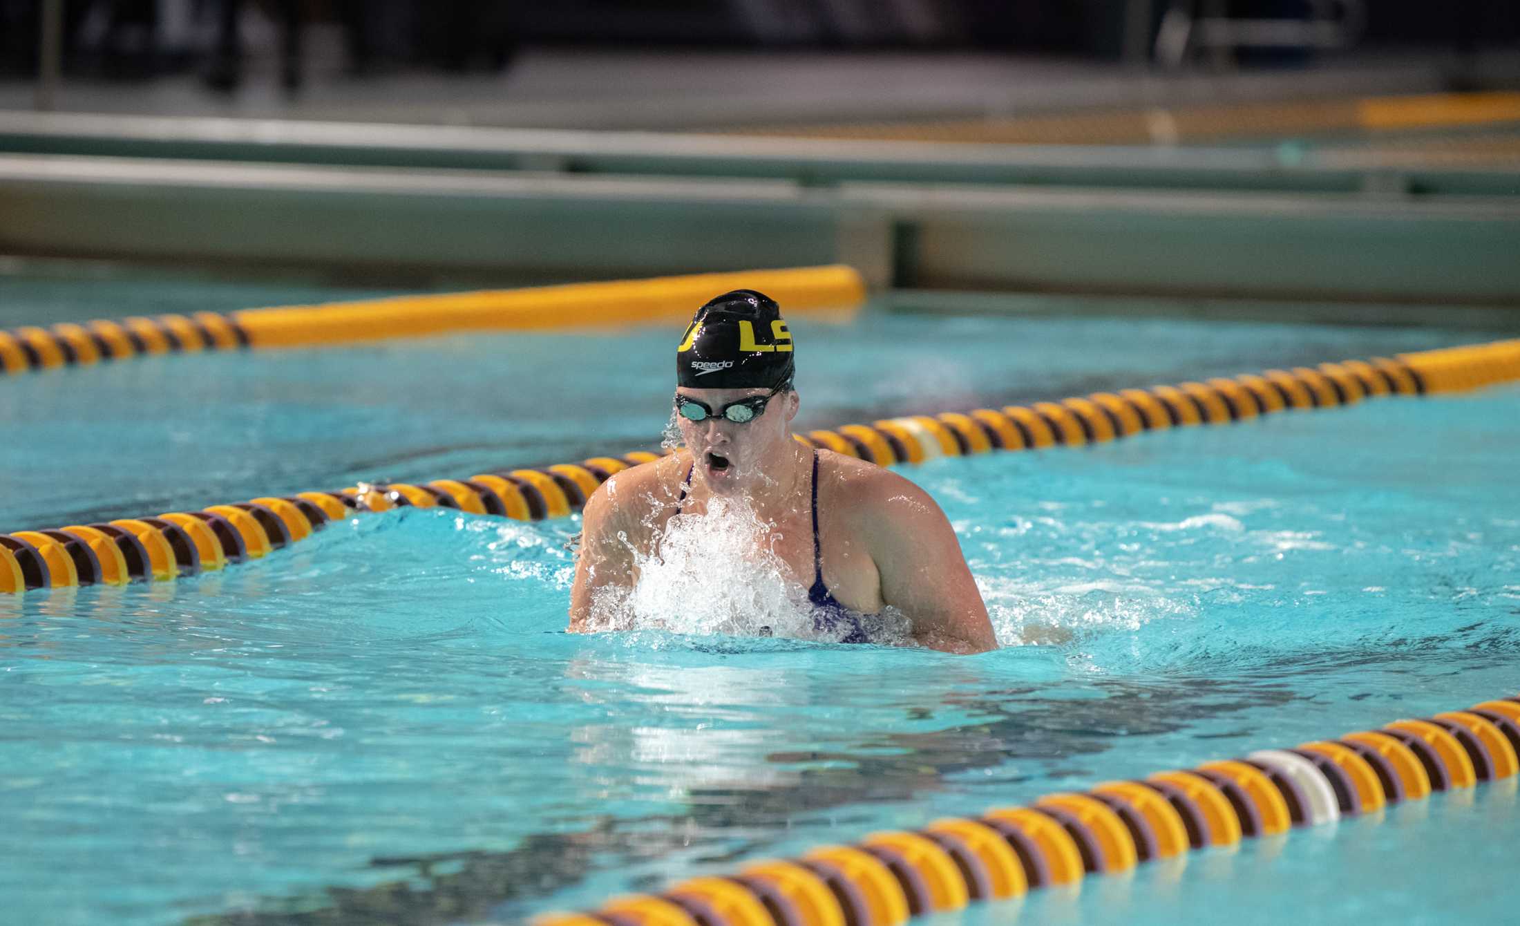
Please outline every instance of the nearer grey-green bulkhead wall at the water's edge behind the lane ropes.
[[874, 290], [1517, 306], [1517, 242], [1520, 196], [1417, 195], [1401, 181], [815, 184], [0, 155], [0, 252], [371, 281], [848, 263]]

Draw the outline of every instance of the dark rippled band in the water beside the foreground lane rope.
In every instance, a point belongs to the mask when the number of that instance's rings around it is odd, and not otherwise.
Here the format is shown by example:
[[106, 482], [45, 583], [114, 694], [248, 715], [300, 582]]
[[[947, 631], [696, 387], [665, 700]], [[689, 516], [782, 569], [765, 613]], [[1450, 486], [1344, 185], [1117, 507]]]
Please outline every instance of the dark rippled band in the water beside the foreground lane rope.
[[[1094, 681], [1104, 698], [1041, 698], [1014, 687], [956, 698], [953, 707], [990, 719], [932, 733], [892, 733], [857, 751], [775, 753], [774, 763], [831, 762], [803, 769], [796, 780], [760, 788], [693, 788], [678, 815], [599, 818], [579, 833], [527, 836], [508, 851], [458, 851], [375, 858], [395, 880], [369, 888], [330, 886], [319, 894], [269, 899], [258, 909], [198, 915], [190, 926], [432, 926], [486, 917], [515, 917], [537, 899], [567, 888], [593, 870], [629, 867], [670, 851], [707, 850], [702, 861], [749, 856], [766, 845], [734, 845], [734, 830], [784, 838], [798, 813], [848, 804], [907, 801], [945, 788], [945, 777], [996, 768], [1009, 759], [1059, 762], [1096, 756], [1131, 736], [1173, 733], [1202, 719], [1300, 699], [1281, 683], [1227, 683], [1208, 678], [1166, 684]], [[1143, 699], [1146, 710], [1137, 712]], [[1049, 771], [1049, 769], [1047, 769]], [[1059, 774], [1059, 772], [1056, 772]], [[1067, 774], [1085, 775], [1087, 769]], [[1006, 786], [1034, 775], [1002, 777]], [[990, 803], [997, 798], [990, 797]], [[631, 883], [631, 890], [658, 890]]]

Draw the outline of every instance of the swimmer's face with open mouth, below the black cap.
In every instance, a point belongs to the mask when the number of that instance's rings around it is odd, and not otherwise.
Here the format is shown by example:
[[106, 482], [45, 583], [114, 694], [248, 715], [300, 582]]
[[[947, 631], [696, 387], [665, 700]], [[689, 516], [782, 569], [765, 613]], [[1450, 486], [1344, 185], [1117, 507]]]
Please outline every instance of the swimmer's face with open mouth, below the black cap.
[[[745, 398], [765, 397], [769, 389], [676, 389], [701, 401], [714, 412]], [[714, 493], [733, 493], [752, 487], [765, 473], [790, 450], [792, 418], [796, 415], [795, 391], [771, 395], [765, 411], [749, 421], [737, 423], [711, 415], [704, 421], [692, 421], [682, 415], [675, 420], [681, 426], [681, 439], [692, 450], [692, 461], [702, 473], [702, 480]]]

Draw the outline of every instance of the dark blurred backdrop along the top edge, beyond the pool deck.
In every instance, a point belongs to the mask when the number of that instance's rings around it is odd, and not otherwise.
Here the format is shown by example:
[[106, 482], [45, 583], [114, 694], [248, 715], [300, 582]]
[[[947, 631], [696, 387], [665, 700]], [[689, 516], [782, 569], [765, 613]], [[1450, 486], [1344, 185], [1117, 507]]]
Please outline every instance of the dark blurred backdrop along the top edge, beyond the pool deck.
[[[43, 0], [0, 0], [0, 76], [38, 68]], [[670, 49], [983, 49], [1113, 59], [1151, 56], [1170, 20], [1318, 20], [1335, 44], [1449, 47], [1520, 41], [1514, 0], [59, 0], [65, 75], [141, 79], [199, 73], [234, 87], [249, 49], [283, 62], [287, 87], [328, 61], [491, 71], [524, 44]], [[1195, 46], [1199, 35], [1193, 35]], [[1330, 44], [1330, 43], [1321, 43]], [[1292, 64], [1315, 43], [1231, 49]]]

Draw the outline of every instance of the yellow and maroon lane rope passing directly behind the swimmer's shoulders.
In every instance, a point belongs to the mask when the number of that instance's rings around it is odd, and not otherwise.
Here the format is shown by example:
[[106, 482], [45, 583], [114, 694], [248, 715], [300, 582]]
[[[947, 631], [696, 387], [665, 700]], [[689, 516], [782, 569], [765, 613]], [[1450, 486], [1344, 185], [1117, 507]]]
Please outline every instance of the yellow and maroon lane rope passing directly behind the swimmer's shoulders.
[[[1002, 411], [886, 418], [810, 430], [796, 439], [879, 465], [918, 464], [993, 450], [1076, 447], [1146, 430], [1230, 424], [1380, 395], [1461, 392], [1512, 382], [1520, 382], [1520, 339], [1094, 392]], [[202, 511], [0, 534], [0, 591], [172, 581], [261, 558], [306, 540], [334, 518], [403, 506], [456, 508], [514, 520], [567, 517], [614, 473], [658, 458], [637, 450], [421, 485], [360, 484], [339, 491], [263, 496]]]

